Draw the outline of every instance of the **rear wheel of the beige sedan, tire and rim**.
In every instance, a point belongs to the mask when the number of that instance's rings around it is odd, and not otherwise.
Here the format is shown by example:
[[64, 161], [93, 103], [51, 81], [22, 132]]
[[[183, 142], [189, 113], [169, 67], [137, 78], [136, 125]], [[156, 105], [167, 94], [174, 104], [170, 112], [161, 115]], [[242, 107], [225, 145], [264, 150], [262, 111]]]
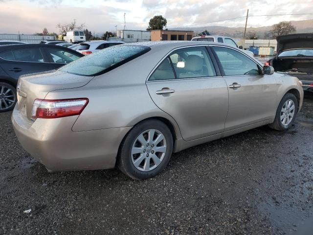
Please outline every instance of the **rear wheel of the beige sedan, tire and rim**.
[[122, 142], [117, 166], [133, 179], [148, 179], [165, 168], [172, 150], [169, 128], [159, 120], [143, 121], [134, 126]]

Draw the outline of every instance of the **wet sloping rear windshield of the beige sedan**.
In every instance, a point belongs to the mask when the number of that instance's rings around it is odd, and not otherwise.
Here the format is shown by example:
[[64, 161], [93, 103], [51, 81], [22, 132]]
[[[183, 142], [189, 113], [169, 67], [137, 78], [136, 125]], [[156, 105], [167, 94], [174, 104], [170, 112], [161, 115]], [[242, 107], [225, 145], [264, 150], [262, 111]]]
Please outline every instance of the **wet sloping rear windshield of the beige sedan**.
[[149, 50], [150, 47], [144, 46], [108, 47], [75, 60], [59, 70], [82, 76], [96, 76], [111, 71]]

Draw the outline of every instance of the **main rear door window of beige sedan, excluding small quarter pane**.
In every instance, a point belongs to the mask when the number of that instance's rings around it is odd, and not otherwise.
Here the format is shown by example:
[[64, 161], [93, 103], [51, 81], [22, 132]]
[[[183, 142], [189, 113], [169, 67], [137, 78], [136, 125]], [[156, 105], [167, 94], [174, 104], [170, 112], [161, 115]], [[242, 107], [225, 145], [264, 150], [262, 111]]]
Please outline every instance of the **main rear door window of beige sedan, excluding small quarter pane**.
[[212, 60], [205, 47], [189, 47], [170, 54], [177, 78], [216, 76]]

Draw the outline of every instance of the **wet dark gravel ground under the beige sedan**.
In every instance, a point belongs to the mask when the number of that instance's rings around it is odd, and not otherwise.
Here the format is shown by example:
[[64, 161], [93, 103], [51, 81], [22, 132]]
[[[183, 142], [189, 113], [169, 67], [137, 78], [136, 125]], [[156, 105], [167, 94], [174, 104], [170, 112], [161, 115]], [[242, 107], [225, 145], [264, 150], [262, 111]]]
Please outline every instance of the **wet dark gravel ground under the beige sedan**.
[[48, 173], [10, 116], [0, 114], [0, 234], [312, 234], [313, 94], [291, 130], [192, 147], [145, 181], [116, 169]]

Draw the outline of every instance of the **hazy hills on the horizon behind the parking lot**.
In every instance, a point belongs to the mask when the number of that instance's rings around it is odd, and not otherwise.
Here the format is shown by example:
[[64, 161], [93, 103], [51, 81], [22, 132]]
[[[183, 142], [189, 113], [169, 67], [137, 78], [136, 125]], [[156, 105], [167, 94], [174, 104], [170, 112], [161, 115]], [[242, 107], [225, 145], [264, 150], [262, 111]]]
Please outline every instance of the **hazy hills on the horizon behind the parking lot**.
[[[304, 21], [291, 21], [291, 24], [296, 27], [296, 33], [313, 33], [313, 19]], [[246, 34], [254, 33], [259, 39], [268, 39], [267, 33], [272, 28], [270, 26], [263, 27], [247, 27]], [[176, 27], [172, 30], [192, 30], [195, 33], [207, 30], [211, 35], [229, 36], [232, 38], [243, 38], [245, 27], [225, 27], [225, 26], [201, 26], [201, 27]], [[169, 29], [170, 30], [170, 29]]]

